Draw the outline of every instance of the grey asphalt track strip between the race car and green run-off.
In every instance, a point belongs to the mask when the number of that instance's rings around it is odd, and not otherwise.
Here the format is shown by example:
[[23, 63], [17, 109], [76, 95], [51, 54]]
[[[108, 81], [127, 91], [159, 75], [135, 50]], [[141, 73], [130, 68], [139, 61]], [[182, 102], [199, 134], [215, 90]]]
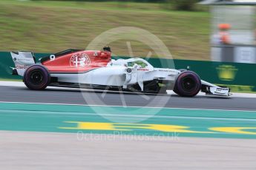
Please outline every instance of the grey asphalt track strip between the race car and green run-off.
[[188, 109], [256, 110], [256, 98], [218, 98], [178, 95], [122, 94], [122, 92], [95, 92], [79, 89], [45, 89], [32, 91], [22, 86], [0, 86], [0, 101], [26, 103], [66, 103], [105, 106], [147, 106]]

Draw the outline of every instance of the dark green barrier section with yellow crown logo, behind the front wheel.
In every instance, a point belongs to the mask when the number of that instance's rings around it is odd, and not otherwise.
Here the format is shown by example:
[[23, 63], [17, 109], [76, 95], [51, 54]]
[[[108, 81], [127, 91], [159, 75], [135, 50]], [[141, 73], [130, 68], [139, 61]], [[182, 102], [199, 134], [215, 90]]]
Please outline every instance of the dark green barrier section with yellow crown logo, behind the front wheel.
[[256, 64], [175, 60], [176, 68], [197, 72], [205, 81], [229, 86], [234, 92], [256, 92]]

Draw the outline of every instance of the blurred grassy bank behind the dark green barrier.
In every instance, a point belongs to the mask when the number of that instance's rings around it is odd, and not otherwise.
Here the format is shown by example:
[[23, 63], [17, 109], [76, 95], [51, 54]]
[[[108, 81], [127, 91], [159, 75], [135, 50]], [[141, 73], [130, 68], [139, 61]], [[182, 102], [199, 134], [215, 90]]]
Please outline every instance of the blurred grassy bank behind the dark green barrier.
[[[131, 2], [0, 0], [0, 50], [85, 49], [102, 32], [129, 26], [157, 35], [174, 58], [209, 60], [210, 14], [167, 10], [163, 6]], [[129, 55], [126, 41], [131, 40], [109, 44], [115, 55]], [[131, 41], [131, 48], [135, 56], [146, 56], [151, 50], [138, 41]], [[154, 52], [152, 55], [156, 56]]]

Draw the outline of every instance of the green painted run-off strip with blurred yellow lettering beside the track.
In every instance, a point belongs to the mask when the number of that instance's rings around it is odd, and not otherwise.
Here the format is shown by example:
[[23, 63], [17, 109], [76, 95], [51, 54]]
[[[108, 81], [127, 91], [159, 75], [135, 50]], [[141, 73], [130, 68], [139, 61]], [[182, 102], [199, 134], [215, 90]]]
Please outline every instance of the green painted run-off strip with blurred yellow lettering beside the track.
[[0, 103], [0, 130], [256, 138], [256, 111]]

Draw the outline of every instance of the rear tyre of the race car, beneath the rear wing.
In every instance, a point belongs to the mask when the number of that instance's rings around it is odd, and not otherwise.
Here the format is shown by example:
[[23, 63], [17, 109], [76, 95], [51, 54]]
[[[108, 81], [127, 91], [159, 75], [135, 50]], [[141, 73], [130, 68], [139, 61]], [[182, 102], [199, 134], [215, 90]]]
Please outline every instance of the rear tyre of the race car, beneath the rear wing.
[[24, 72], [23, 81], [28, 89], [42, 90], [50, 84], [50, 74], [42, 65], [33, 65]]

